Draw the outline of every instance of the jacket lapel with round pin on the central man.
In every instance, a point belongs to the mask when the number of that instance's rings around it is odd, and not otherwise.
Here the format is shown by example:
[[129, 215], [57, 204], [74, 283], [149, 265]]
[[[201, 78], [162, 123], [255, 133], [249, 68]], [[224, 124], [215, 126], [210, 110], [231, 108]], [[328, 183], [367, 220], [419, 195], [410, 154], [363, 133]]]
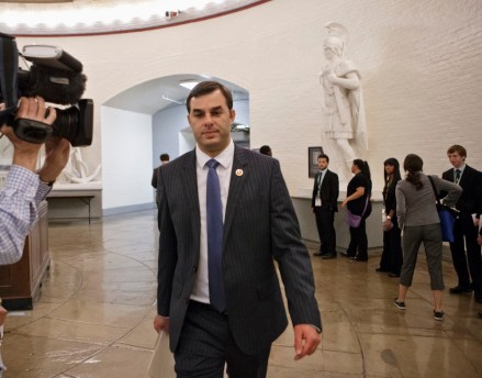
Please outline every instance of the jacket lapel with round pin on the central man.
[[234, 216], [239, 207], [240, 193], [249, 179], [247, 154], [243, 148], [234, 149], [233, 170], [231, 171], [229, 192], [227, 194], [226, 215], [224, 219], [223, 246], [226, 244]]

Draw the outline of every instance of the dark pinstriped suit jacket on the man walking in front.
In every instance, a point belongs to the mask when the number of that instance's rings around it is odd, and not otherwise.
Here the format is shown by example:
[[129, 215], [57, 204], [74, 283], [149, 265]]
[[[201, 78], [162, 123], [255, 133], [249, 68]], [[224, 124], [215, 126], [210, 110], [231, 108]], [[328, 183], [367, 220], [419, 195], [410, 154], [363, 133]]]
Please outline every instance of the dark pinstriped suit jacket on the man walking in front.
[[[157, 310], [169, 315], [173, 352], [200, 258], [195, 153], [159, 169]], [[236, 175], [242, 169], [243, 175]], [[239, 171], [238, 171], [239, 173]], [[231, 331], [247, 354], [268, 347], [288, 321], [273, 258], [293, 324], [321, 327], [313, 271], [277, 159], [235, 148], [223, 238], [224, 286]]]

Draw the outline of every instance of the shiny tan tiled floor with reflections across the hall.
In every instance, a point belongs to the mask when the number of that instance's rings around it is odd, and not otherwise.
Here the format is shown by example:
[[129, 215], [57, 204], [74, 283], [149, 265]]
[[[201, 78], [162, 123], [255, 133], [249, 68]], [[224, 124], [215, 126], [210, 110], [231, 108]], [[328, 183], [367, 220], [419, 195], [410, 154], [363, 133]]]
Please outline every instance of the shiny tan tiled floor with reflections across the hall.
[[[155, 211], [103, 221], [51, 223], [51, 275], [33, 311], [10, 313], [2, 356], [5, 378], [147, 377], [156, 333]], [[444, 322], [431, 318], [421, 255], [406, 311], [392, 300], [397, 282], [367, 263], [313, 257], [324, 340], [293, 360], [289, 327], [276, 342], [271, 378], [482, 377], [482, 305], [446, 294]], [[444, 264], [447, 287], [456, 284]]]

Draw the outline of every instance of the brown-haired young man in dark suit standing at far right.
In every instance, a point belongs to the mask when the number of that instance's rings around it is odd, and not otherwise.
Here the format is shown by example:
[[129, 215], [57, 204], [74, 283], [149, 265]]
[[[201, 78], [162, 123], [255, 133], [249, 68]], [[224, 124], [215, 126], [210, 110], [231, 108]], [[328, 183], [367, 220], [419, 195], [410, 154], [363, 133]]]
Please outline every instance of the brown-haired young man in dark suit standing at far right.
[[441, 177], [460, 185], [463, 189], [456, 204], [460, 215], [453, 227], [455, 241], [450, 243], [453, 267], [459, 282], [450, 288], [450, 293], [460, 294], [473, 290], [475, 300], [482, 302], [481, 247], [477, 243], [479, 229], [477, 216], [482, 212], [482, 174], [466, 164], [464, 147], [453, 145], [448, 148], [447, 156], [453, 168], [446, 170]]

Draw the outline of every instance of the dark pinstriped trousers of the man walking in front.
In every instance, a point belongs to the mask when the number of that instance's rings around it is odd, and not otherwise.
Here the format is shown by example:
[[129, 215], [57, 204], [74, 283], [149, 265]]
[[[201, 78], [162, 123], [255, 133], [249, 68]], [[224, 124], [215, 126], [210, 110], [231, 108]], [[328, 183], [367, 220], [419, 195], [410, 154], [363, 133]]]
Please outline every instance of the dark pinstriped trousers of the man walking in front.
[[227, 364], [229, 378], [264, 378], [270, 351], [246, 355], [229, 331], [228, 314], [190, 301], [175, 352], [177, 377], [222, 378]]

